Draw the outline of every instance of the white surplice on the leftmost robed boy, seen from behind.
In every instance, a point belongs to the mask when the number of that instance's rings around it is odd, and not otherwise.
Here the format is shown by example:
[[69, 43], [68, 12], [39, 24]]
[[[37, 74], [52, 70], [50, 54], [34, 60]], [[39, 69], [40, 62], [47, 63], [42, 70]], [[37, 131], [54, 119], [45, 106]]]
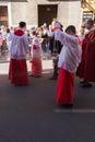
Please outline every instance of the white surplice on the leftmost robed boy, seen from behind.
[[11, 35], [10, 58], [25, 59], [28, 49], [28, 38], [26, 34], [17, 36], [14, 33]]

